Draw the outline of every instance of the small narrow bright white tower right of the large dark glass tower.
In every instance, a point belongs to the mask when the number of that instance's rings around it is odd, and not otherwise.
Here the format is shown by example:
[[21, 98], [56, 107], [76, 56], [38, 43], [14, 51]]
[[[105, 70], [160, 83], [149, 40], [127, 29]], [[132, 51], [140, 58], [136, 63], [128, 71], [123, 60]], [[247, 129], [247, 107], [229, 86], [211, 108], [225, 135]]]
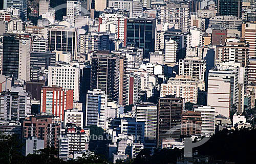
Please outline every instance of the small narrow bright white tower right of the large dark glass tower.
[[169, 39], [165, 41], [164, 46], [164, 63], [176, 63], [178, 44], [176, 41]]

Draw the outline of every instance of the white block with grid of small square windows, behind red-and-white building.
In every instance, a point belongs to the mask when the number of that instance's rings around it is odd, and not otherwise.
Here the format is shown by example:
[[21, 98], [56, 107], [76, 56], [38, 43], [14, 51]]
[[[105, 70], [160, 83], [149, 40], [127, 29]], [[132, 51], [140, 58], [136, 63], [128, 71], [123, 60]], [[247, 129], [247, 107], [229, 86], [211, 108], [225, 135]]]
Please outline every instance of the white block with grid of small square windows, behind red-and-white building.
[[79, 100], [79, 67], [67, 63], [49, 66], [48, 85], [74, 90], [74, 101]]

